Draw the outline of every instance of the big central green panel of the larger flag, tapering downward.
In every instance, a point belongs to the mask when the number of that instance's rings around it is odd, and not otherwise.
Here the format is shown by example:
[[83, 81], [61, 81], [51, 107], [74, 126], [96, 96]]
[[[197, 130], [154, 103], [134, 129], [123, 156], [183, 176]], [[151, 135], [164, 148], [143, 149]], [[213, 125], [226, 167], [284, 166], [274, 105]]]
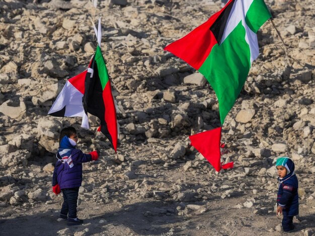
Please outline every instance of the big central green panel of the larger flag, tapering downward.
[[245, 33], [240, 22], [220, 46], [213, 46], [199, 68], [218, 97], [221, 124], [240, 94], [250, 70], [250, 47], [245, 41]]

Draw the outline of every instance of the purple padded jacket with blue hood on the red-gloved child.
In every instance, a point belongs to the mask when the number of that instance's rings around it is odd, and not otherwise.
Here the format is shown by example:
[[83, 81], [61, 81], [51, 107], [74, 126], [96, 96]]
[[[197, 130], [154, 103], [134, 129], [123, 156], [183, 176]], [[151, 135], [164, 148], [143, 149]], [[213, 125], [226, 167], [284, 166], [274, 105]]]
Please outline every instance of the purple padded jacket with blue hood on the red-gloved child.
[[92, 156], [72, 146], [66, 136], [61, 140], [56, 156], [58, 161], [52, 176], [52, 186], [59, 184], [60, 189], [80, 187], [82, 163], [92, 161]]

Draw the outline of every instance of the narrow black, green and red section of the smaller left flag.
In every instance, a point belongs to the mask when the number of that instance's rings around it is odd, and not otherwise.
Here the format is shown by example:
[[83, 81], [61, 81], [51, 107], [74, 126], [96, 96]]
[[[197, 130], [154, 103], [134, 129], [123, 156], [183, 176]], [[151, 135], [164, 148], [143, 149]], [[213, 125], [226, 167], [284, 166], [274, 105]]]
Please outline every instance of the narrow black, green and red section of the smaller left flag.
[[111, 90], [111, 82], [101, 48], [97, 46], [85, 79], [83, 97], [86, 112], [99, 117], [101, 131], [117, 151], [117, 118], [115, 102]]

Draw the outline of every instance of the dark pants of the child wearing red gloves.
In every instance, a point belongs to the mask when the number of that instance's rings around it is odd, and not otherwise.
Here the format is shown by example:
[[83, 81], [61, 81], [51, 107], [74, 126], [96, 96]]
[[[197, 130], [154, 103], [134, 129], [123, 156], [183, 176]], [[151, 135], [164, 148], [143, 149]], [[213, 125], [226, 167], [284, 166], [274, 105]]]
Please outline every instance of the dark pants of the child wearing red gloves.
[[77, 188], [61, 189], [63, 194], [63, 203], [60, 214], [68, 215], [69, 218], [76, 218], [76, 202], [78, 197]]

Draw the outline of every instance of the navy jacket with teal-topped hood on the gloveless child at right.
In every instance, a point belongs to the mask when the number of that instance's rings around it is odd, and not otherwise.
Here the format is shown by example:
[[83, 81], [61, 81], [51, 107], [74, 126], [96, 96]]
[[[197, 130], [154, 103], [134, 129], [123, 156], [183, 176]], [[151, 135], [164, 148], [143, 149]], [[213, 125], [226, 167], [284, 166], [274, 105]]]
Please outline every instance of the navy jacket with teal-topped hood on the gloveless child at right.
[[284, 178], [278, 178], [279, 189], [277, 195], [277, 204], [282, 206], [284, 215], [293, 216], [298, 214], [298, 181], [294, 173], [294, 163], [291, 159], [285, 157], [277, 160], [277, 166], [284, 166], [287, 169], [287, 175]]

